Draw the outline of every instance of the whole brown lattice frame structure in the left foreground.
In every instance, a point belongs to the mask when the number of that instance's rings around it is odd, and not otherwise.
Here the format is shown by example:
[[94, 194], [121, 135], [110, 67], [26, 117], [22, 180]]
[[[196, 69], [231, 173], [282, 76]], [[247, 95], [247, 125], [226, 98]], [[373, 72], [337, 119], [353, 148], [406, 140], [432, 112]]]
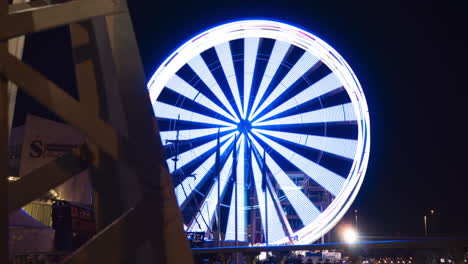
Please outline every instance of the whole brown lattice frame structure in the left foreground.
[[[79, 100], [8, 51], [13, 38], [59, 26], [70, 28]], [[88, 143], [8, 182], [12, 83]], [[157, 132], [125, 0], [0, 0], [1, 263], [8, 262], [8, 213], [84, 169], [98, 234], [66, 263], [192, 263]]]

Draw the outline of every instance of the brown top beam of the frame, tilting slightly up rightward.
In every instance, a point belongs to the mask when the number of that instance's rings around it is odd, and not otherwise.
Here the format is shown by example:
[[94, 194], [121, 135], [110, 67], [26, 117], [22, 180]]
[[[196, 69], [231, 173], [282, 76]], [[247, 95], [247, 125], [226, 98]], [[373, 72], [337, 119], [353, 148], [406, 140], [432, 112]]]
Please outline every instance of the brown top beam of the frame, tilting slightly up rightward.
[[126, 11], [125, 2], [115, 0], [74, 0], [32, 8], [25, 6], [0, 16], [0, 25], [8, 25], [0, 28], [0, 40]]

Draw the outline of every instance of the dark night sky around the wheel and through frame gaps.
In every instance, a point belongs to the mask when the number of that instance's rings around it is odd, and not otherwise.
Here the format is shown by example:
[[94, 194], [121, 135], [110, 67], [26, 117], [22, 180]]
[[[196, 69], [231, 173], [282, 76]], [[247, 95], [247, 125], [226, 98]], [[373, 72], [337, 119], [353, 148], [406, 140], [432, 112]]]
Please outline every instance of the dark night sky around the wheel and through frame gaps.
[[[461, 1], [460, 1], [461, 2]], [[371, 155], [352, 209], [367, 235], [468, 235], [468, 43], [464, 10], [430, 1], [149, 1], [130, 3], [147, 79], [180, 44], [213, 26], [246, 18], [301, 27], [334, 47], [358, 76], [371, 118]], [[466, 13], [466, 12], [465, 12]], [[65, 29], [35, 34], [25, 61], [54, 65], [70, 52]], [[33, 55], [40, 49], [41, 54]], [[43, 60], [42, 60], [43, 61]], [[56, 67], [57, 68], [57, 67]], [[67, 72], [70, 73], [67, 73]], [[72, 66], [45, 71], [73, 93]], [[19, 97], [17, 113], [40, 112]], [[21, 123], [21, 114], [15, 123]], [[351, 221], [350, 212], [345, 221]]]

